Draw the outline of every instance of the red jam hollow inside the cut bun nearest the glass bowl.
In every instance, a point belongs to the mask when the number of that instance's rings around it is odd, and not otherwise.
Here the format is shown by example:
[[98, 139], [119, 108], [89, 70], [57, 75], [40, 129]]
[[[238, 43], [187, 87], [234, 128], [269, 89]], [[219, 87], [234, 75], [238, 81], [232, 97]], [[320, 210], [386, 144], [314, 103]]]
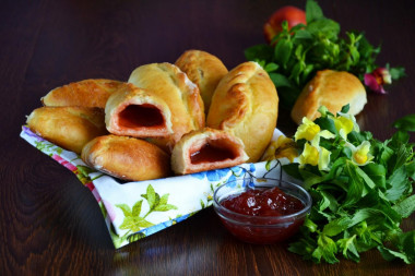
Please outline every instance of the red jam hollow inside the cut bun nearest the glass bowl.
[[201, 148], [190, 154], [192, 164], [214, 163], [235, 158], [236, 155], [233, 151], [214, 146], [210, 143], [204, 144]]

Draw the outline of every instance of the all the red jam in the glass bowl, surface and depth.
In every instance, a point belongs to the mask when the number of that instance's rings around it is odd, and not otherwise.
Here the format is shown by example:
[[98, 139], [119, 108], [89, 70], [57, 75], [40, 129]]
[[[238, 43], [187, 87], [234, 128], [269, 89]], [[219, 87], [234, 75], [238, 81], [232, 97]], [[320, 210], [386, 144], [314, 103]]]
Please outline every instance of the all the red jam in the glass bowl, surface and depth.
[[[227, 214], [227, 218], [221, 217], [225, 227], [236, 238], [249, 243], [270, 244], [284, 241], [296, 233], [304, 224], [304, 217], [286, 218], [283, 223], [278, 220], [280, 216], [297, 213], [305, 207], [300, 200], [278, 188], [251, 189], [226, 197], [221, 201], [221, 205], [235, 213], [252, 216], [241, 219]], [[265, 217], [265, 220], [256, 219], [260, 216]]]

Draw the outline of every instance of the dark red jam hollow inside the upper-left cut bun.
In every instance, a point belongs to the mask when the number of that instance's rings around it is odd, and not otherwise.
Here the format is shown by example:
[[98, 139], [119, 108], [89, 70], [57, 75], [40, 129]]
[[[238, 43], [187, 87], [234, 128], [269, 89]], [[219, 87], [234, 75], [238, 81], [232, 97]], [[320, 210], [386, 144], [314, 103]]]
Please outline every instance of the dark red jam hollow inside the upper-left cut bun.
[[120, 127], [152, 128], [164, 125], [161, 111], [152, 105], [130, 105], [118, 115]]

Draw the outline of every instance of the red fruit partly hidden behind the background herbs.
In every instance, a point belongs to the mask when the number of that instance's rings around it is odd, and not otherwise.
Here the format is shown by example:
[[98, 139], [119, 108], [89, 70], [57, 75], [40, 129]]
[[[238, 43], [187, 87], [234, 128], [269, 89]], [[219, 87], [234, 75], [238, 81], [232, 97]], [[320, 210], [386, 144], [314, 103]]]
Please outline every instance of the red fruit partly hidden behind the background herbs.
[[288, 29], [300, 23], [307, 24], [306, 12], [293, 5], [286, 5], [276, 10], [263, 25], [263, 33], [268, 43], [282, 31], [282, 23], [288, 22]]

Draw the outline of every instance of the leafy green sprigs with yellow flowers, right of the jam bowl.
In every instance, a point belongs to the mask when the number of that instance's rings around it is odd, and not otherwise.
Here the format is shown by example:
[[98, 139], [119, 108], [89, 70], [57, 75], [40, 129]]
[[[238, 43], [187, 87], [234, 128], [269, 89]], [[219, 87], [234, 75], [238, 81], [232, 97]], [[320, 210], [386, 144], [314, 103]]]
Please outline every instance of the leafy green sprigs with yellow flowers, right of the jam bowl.
[[359, 262], [376, 248], [386, 260], [413, 264], [415, 230], [400, 225], [415, 212], [415, 144], [407, 133], [415, 131], [415, 115], [398, 120], [398, 131], [381, 142], [360, 131], [347, 109], [334, 116], [320, 108], [322, 116], [305, 119], [295, 134], [299, 165], [283, 168], [304, 181], [313, 206], [289, 251], [337, 263], [339, 255]]

